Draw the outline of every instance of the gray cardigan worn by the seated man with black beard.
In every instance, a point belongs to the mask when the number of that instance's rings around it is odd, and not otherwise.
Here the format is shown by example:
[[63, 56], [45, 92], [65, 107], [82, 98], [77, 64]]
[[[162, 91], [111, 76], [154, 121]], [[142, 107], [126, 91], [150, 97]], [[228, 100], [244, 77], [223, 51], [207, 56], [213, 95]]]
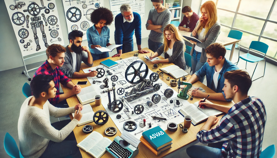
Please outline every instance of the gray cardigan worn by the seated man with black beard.
[[[68, 46], [65, 47], [65, 57], [64, 57], [64, 65], [61, 67], [62, 72], [67, 75], [68, 77], [72, 78], [72, 75], [74, 74], [74, 68], [73, 68], [73, 57], [71, 52], [68, 49]], [[80, 71], [81, 63], [82, 61], [89, 67], [93, 65], [88, 63], [88, 54], [82, 51], [81, 54], [76, 53], [76, 61], [77, 61], [77, 72]]]

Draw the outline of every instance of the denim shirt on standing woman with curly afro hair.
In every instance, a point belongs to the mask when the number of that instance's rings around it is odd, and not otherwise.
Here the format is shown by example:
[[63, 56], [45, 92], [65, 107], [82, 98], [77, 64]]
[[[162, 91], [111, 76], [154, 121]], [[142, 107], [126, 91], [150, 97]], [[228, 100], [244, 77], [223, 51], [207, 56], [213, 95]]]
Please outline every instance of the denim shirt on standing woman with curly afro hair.
[[99, 35], [98, 31], [96, 30], [95, 26], [92, 25], [86, 31], [86, 37], [89, 43], [89, 51], [92, 54], [101, 54], [105, 52], [101, 52], [98, 49], [94, 48], [91, 49], [91, 45], [100, 45], [101, 47], [106, 47], [108, 43], [110, 43], [110, 29], [107, 26], [104, 26], [101, 31], [101, 35]]

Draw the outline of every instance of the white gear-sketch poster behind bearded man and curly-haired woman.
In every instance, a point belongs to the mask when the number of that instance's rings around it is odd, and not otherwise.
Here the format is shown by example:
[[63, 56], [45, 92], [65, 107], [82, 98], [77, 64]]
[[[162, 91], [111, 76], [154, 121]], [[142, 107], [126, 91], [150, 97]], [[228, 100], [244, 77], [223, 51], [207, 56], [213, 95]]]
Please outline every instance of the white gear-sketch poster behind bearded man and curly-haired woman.
[[86, 30], [93, 23], [90, 14], [97, 8], [104, 6], [104, 0], [62, 0], [64, 14], [66, 17], [68, 33], [79, 30], [84, 33], [83, 40], [86, 40]]

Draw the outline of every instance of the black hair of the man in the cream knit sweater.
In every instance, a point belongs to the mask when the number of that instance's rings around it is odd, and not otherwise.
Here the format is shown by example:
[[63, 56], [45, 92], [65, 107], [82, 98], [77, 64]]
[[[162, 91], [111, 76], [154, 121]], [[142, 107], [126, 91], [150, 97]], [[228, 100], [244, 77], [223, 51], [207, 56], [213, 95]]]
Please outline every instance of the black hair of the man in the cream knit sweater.
[[50, 82], [54, 80], [53, 75], [36, 75], [30, 83], [31, 92], [35, 98], [40, 97], [40, 93], [46, 92], [50, 88]]

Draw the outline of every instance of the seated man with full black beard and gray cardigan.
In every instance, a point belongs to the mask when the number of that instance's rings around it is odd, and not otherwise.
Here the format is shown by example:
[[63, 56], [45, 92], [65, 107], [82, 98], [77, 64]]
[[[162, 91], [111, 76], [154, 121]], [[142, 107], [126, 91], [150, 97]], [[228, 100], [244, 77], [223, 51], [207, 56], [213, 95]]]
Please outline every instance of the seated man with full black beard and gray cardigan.
[[[82, 46], [83, 32], [74, 30], [68, 34], [69, 45], [65, 47], [64, 65], [62, 72], [71, 78], [94, 77], [97, 71], [79, 73], [82, 61], [89, 67], [93, 65], [93, 59], [89, 49]], [[86, 53], [84, 52], [86, 51]]]

